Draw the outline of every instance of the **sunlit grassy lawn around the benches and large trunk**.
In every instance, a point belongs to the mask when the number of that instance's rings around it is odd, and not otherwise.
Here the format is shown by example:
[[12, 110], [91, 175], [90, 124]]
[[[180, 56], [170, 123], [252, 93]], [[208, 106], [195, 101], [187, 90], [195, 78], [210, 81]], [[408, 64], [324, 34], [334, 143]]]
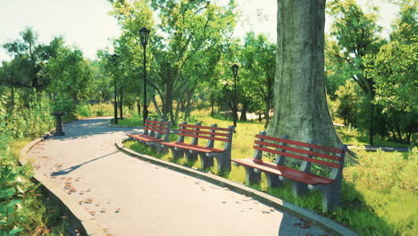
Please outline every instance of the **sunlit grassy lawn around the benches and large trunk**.
[[[133, 119], [138, 119], [133, 117]], [[191, 117], [190, 122], [202, 122], [205, 125], [217, 123], [219, 127], [227, 127], [232, 122], [214, 119], [204, 111]], [[127, 121], [127, 120], [126, 120]], [[125, 122], [125, 120], [124, 120]], [[234, 134], [232, 158], [246, 158], [253, 154], [255, 134], [263, 131], [263, 124], [258, 122], [238, 122]], [[362, 145], [358, 141], [357, 131], [347, 128], [338, 129], [340, 137], [349, 144]], [[171, 140], [177, 139], [171, 135]], [[377, 144], [390, 145], [385, 141], [376, 140]], [[135, 141], [127, 141], [127, 147], [138, 153], [157, 156], [155, 151]], [[402, 147], [402, 146], [401, 146]], [[407, 146], [406, 146], [407, 147]], [[322, 213], [320, 192], [303, 197], [294, 197], [291, 186], [287, 183], [283, 188], [267, 187], [267, 180], [262, 175], [259, 185], [251, 186], [325, 215], [339, 223], [347, 225], [362, 235], [416, 235], [418, 232], [417, 205], [418, 195], [418, 150], [414, 147], [409, 153], [365, 152], [356, 150], [359, 164], [346, 164], [344, 169], [342, 205], [334, 212]], [[166, 161], [173, 162], [171, 153], [159, 155]], [[186, 163], [185, 158], [176, 161], [189, 167], [200, 168], [199, 161]], [[216, 164], [214, 164], [216, 166]], [[217, 173], [216, 167], [209, 170]], [[243, 167], [232, 165], [231, 172], [224, 176], [231, 181], [245, 182]]]

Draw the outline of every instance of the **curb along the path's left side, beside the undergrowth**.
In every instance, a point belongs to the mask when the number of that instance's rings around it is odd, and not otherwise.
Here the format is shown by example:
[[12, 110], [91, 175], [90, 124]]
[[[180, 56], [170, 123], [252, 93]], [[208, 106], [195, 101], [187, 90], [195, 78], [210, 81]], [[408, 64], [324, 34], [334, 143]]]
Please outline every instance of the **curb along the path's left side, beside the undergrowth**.
[[[52, 131], [51, 131], [52, 132]], [[29, 144], [23, 147], [20, 151], [19, 162], [21, 165], [29, 163], [29, 157], [27, 153], [35, 147], [38, 143], [42, 142], [48, 137], [51, 132], [47, 132], [41, 138], [32, 140]], [[89, 215], [86, 209], [79, 206], [79, 204], [65, 193], [60, 186], [46, 176], [35, 173], [33, 176], [35, 181], [42, 184], [43, 190], [46, 190], [46, 194], [54, 199], [54, 204], [57, 204], [63, 212], [69, 216], [71, 225], [77, 225], [78, 228], [82, 228], [87, 235], [91, 236], [104, 236], [102, 228], [96, 223], [95, 218]]]

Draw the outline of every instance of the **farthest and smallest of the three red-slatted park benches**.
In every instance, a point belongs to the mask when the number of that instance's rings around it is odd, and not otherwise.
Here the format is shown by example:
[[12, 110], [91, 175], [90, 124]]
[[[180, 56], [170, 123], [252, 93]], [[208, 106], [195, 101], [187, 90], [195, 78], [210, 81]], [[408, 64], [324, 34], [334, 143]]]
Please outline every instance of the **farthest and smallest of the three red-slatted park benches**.
[[145, 143], [148, 146], [155, 147], [157, 153], [164, 153], [168, 151], [168, 148], [164, 148], [160, 145], [161, 142], [167, 142], [170, 138], [171, 122], [158, 122], [156, 119], [146, 119], [144, 125], [144, 133], [130, 134], [130, 139], [135, 139], [141, 143]]

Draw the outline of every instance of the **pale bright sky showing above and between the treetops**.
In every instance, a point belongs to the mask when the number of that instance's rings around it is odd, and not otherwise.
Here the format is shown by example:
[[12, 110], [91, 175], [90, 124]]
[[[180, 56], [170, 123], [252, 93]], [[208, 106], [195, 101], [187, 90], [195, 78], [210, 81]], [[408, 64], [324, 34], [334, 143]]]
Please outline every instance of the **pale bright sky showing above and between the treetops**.
[[[228, 0], [216, 0], [228, 1]], [[265, 34], [276, 40], [277, 0], [237, 0], [242, 13], [235, 36], [246, 32]], [[387, 0], [357, 0], [364, 8], [367, 4], [380, 7], [379, 24], [389, 29], [398, 9]], [[94, 59], [96, 51], [111, 46], [110, 38], [117, 38], [121, 30], [108, 14], [111, 4], [107, 0], [0, 0], [0, 62], [11, 60], [3, 45], [20, 38], [20, 32], [32, 27], [38, 32], [38, 42], [48, 44], [54, 37], [63, 36], [68, 45], [78, 46], [86, 57]], [[330, 30], [330, 18], [325, 30]], [[383, 32], [389, 34], [389, 30]]]

